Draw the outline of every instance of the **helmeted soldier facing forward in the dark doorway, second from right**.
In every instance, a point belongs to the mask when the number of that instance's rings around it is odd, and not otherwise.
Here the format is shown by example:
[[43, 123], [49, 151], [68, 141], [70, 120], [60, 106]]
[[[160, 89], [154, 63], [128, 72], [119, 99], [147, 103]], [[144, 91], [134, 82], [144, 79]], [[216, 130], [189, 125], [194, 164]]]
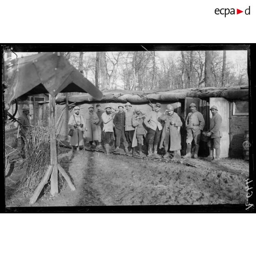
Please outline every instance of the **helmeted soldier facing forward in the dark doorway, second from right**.
[[201, 131], [204, 129], [205, 120], [203, 115], [197, 111], [195, 103], [191, 103], [189, 105], [190, 111], [186, 120], [186, 128], [187, 128], [187, 154], [183, 156], [184, 158], [191, 157], [191, 145], [194, 140], [195, 143], [195, 154], [194, 158], [198, 157], [198, 150], [201, 138]]

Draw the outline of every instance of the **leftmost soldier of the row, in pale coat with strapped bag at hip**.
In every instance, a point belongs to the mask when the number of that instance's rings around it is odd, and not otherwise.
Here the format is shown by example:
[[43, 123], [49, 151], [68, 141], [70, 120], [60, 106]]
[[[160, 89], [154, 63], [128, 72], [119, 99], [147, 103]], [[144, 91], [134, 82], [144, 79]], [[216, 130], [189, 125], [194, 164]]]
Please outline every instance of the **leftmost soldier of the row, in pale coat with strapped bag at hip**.
[[80, 146], [83, 146], [83, 133], [85, 130], [85, 124], [83, 117], [80, 115], [80, 107], [74, 107], [74, 114], [69, 117], [68, 128], [73, 130], [73, 135], [70, 137], [70, 145], [72, 147], [72, 152], [75, 151], [75, 148], [79, 150]]

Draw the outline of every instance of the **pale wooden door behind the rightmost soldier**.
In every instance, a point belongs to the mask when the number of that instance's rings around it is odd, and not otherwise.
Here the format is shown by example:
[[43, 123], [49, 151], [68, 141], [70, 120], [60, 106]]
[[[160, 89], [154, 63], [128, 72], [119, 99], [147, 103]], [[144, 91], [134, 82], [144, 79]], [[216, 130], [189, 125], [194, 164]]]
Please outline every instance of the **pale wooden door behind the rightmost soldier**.
[[[221, 125], [221, 131], [222, 131], [222, 138], [221, 138], [221, 154], [220, 157], [228, 157], [228, 150], [229, 150], [229, 101], [224, 98], [210, 98], [210, 108], [212, 105], [217, 106], [218, 113], [222, 117], [222, 125]], [[210, 111], [210, 118], [212, 117], [211, 111]]]

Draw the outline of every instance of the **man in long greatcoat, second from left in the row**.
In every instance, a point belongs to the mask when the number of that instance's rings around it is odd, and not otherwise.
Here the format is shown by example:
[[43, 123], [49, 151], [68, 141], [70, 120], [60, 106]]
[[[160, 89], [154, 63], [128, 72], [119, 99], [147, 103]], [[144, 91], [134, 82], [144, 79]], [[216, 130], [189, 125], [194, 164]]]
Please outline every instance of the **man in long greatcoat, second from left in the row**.
[[94, 112], [93, 106], [88, 106], [89, 112], [85, 115], [85, 126], [87, 128], [87, 132], [85, 133], [86, 140], [89, 141], [90, 147], [93, 145], [93, 141], [95, 141], [96, 147], [99, 146], [99, 136], [98, 136], [98, 122], [100, 121], [97, 114]]

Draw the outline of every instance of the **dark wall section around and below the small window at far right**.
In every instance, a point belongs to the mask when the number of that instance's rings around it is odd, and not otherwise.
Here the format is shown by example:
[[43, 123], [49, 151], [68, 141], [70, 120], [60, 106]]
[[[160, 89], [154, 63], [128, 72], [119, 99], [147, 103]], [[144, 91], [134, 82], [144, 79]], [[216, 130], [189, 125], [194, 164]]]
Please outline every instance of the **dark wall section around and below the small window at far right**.
[[230, 148], [229, 156], [243, 158], [243, 139], [245, 130], [249, 130], [249, 115], [233, 115], [233, 104], [230, 104]]

